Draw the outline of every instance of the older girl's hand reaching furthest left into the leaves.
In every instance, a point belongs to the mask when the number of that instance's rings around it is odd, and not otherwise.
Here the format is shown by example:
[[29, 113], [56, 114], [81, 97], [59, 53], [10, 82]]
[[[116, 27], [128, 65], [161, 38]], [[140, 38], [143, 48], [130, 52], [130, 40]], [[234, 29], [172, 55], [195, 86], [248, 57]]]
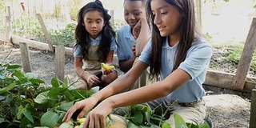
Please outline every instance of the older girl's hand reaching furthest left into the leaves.
[[75, 102], [74, 106], [68, 110], [62, 119], [62, 122], [68, 122], [70, 121], [70, 118], [74, 114], [76, 110], [82, 110], [80, 114], [78, 114], [77, 118], [82, 118], [88, 111], [90, 111], [97, 103], [98, 101], [95, 100], [93, 97], [86, 98], [82, 101]]

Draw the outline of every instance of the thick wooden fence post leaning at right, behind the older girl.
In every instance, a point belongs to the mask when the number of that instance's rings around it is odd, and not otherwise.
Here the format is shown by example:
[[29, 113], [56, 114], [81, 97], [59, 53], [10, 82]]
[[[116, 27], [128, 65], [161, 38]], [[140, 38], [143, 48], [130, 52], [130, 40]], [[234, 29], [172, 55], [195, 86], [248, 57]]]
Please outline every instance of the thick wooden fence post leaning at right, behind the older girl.
[[253, 18], [253, 22], [250, 25], [249, 34], [246, 38], [246, 44], [242, 51], [242, 57], [238, 64], [238, 70], [234, 76], [232, 86], [234, 88], [242, 90], [245, 82], [246, 76], [250, 69], [250, 63], [252, 61], [254, 50], [256, 47], [256, 18]]

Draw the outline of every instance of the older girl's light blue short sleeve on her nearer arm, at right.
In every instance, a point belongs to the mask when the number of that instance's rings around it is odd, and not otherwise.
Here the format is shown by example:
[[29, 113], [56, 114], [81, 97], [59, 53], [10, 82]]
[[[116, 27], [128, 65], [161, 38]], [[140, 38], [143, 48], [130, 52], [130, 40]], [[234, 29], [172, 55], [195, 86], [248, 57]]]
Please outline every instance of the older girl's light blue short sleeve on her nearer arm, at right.
[[190, 74], [191, 80], [196, 78], [203, 70], [208, 68], [210, 58], [213, 55], [213, 48], [207, 43], [192, 46], [186, 55], [184, 62], [178, 68]]

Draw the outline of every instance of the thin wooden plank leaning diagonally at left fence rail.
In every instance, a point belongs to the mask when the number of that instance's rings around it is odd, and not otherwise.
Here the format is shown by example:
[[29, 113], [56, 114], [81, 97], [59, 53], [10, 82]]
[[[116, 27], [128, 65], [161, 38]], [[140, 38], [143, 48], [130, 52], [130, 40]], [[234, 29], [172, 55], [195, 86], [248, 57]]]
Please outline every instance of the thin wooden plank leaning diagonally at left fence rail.
[[54, 52], [54, 46], [53, 46], [53, 43], [51, 42], [50, 34], [49, 34], [48, 30], [46, 29], [46, 25], [45, 25], [45, 23], [44, 23], [43, 20], [42, 20], [41, 14], [36, 14], [36, 16], [37, 16], [37, 18], [38, 18], [38, 21], [39, 21], [39, 23], [40, 23], [40, 26], [42, 27], [42, 32], [43, 32], [43, 34], [45, 34], [46, 41], [47, 41], [48, 44], [49, 44], [50, 50], [51, 50], [52, 52]]

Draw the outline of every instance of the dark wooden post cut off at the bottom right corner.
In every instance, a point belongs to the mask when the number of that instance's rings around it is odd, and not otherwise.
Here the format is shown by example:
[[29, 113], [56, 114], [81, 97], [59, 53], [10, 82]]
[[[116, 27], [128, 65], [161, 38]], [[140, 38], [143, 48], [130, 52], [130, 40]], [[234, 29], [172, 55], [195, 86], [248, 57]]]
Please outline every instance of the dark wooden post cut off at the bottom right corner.
[[251, 92], [251, 103], [250, 103], [250, 128], [256, 127], [256, 89]]

